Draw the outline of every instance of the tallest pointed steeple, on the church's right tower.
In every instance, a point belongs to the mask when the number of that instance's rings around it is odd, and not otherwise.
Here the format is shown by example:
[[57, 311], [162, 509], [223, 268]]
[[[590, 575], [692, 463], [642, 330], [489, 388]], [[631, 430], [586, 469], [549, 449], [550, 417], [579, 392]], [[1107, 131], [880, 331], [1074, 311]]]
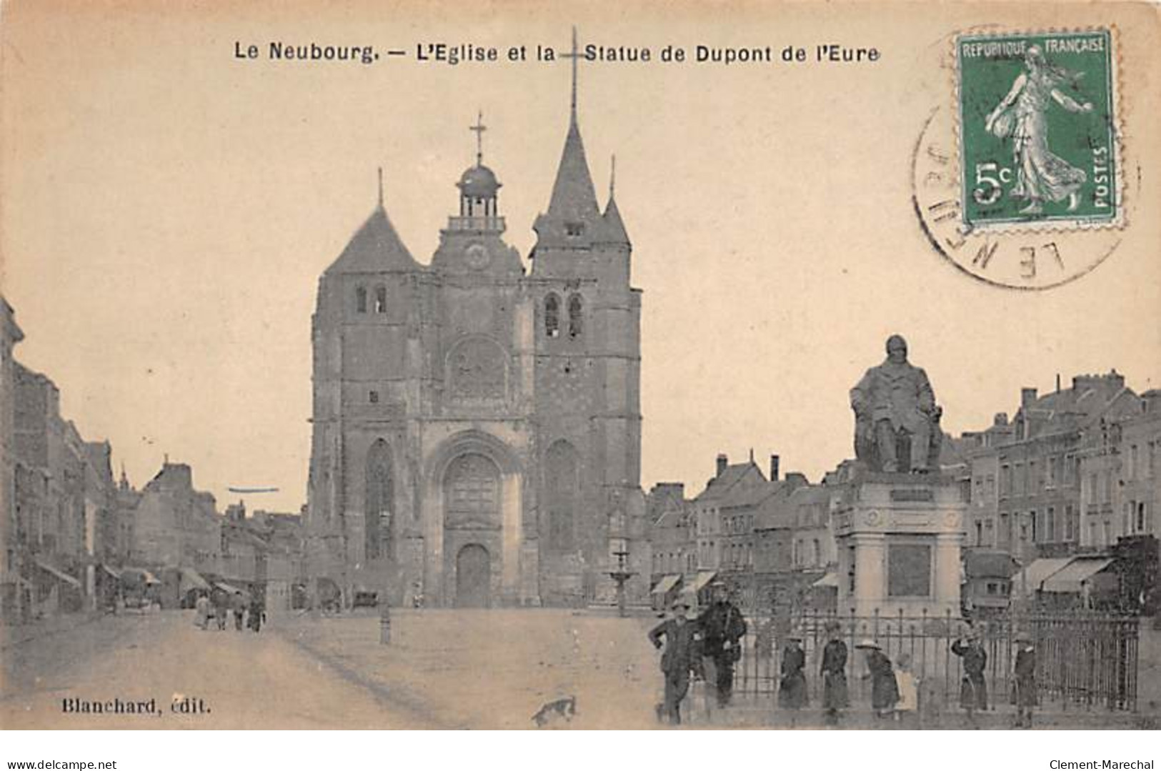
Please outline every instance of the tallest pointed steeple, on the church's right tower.
[[548, 211], [536, 221], [534, 229], [540, 236], [577, 238], [590, 235], [586, 231], [597, 224], [600, 208], [577, 122], [577, 59], [580, 53], [577, 51], [576, 28], [572, 29], [572, 52], [564, 56], [572, 59], [569, 132], [564, 138], [564, 152], [561, 153], [561, 165], [556, 170]]

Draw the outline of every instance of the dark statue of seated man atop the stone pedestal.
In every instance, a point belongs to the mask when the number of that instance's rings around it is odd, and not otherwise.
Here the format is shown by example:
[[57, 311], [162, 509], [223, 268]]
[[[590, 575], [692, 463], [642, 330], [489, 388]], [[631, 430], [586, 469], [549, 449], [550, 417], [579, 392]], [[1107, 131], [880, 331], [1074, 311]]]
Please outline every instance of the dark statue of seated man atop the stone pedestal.
[[[926, 373], [907, 361], [907, 340], [887, 339], [887, 360], [851, 389], [854, 453], [874, 471], [925, 473], [938, 463], [940, 409]], [[910, 440], [910, 457], [899, 457], [899, 440]]]

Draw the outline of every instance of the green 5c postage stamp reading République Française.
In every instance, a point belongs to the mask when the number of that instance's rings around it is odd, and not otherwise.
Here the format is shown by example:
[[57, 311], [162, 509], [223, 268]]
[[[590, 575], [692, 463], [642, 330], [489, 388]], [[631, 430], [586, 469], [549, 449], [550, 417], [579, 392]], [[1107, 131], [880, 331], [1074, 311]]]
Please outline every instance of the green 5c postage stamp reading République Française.
[[1116, 56], [1108, 29], [956, 41], [964, 225], [1117, 225]]

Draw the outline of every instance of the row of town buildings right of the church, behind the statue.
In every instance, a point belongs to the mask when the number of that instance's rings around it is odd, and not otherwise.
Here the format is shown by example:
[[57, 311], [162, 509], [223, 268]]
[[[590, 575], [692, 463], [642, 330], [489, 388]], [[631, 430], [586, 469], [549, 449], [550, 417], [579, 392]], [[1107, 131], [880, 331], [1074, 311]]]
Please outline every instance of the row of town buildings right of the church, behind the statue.
[[[1079, 375], [1052, 392], [1025, 388], [1012, 418], [944, 440], [940, 467], [958, 481], [964, 518], [964, 601], [1007, 605], [1053, 590], [1089, 596], [1090, 576], [1115, 560], [1144, 567], [1137, 607], [1154, 608], [1161, 531], [1161, 391], [1137, 394], [1123, 375]], [[779, 474], [751, 456], [719, 455], [713, 477], [688, 497], [679, 483], [647, 496], [652, 595], [657, 604], [698, 591], [713, 576], [745, 588], [750, 601], [828, 605], [839, 582], [830, 511], [852, 463], [817, 483]], [[1070, 565], [1070, 567], [1069, 567]], [[1066, 570], [1067, 568], [1067, 570]], [[1063, 581], [1068, 576], [1069, 581]], [[1122, 596], [1125, 579], [1104, 586]], [[1074, 598], [1075, 599], [1075, 598]]]

